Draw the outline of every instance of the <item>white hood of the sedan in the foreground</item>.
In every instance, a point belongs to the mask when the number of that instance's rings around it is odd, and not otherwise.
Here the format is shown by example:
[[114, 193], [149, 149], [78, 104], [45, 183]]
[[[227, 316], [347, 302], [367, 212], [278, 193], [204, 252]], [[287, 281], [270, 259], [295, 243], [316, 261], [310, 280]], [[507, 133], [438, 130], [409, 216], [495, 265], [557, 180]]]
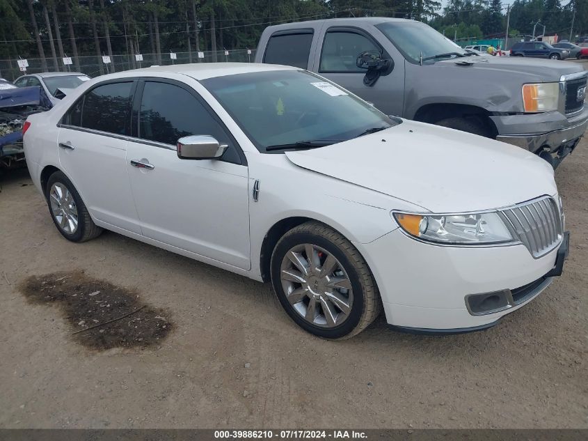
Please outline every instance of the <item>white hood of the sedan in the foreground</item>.
[[403, 120], [381, 132], [285, 155], [304, 169], [431, 212], [489, 210], [557, 193], [553, 169], [536, 155], [493, 139], [414, 121]]

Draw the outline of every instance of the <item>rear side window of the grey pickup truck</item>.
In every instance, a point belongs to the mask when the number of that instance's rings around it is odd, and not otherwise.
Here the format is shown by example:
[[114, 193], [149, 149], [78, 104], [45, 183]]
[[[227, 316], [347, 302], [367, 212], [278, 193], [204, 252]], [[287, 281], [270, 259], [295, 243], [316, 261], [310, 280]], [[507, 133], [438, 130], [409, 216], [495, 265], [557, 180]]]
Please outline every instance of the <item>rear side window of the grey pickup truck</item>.
[[308, 68], [312, 32], [291, 33], [269, 38], [264, 63], [285, 64], [295, 68]]

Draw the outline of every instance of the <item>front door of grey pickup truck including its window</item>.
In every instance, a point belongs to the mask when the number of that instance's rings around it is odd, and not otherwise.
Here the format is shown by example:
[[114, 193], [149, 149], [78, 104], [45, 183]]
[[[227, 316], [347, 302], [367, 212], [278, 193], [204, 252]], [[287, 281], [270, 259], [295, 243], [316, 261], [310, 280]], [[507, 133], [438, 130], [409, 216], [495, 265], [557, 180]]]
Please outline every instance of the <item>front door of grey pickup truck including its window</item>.
[[388, 75], [381, 76], [372, 86], [363, 83], [366, 70], [358, 68], [361, 52], [376, 51], [388, 57], [383, 48], [365, 31], [333, 27], [319, 42], [321, 55], [315, 61], [315, 72], [340, 84], [388, 115], [402, 115], [404, 107], [404, 65], [398, 63]]

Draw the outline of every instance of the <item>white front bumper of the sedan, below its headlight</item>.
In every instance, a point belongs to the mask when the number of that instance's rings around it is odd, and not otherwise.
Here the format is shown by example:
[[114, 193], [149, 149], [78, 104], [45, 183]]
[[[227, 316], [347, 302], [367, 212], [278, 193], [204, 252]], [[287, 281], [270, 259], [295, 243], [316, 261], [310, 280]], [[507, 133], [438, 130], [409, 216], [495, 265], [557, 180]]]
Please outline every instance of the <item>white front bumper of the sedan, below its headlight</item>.
[[[561, 274], [567, 235], [559, 248], [537, 259], [523, 245], [429, 245], [399, 229], [358, 247], [378, 284], [389, 325], [418, 333], [454, 334], [495, 325], [537, 297]], [[481, 315], [468, 310], [469, 295], [504, 291], [510, 295], [507, 307]]]

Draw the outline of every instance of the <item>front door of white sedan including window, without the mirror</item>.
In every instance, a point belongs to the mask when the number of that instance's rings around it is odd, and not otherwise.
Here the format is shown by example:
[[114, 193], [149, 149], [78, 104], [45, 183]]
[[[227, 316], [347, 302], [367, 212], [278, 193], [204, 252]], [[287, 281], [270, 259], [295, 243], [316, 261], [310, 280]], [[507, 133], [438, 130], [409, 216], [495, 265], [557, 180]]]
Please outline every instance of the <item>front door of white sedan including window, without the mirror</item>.
[[[127, 170], [143, 235], [250, 269], [248, 169], [236, 141], [188, 86], [149, 80], [139, 90]], [[229, 148], [221, 160], [181, 160], [177, 140], [193, 134]]]

